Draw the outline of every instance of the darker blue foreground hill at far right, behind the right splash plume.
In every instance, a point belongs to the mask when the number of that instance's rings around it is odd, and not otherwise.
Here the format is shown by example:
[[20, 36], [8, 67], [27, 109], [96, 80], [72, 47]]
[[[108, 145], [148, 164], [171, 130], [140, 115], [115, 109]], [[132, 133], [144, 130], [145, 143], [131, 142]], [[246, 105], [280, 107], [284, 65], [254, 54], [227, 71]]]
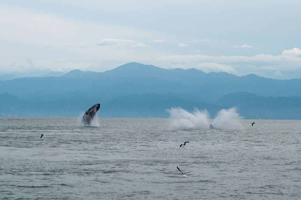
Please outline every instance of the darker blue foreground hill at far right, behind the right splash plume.
[[237, 92], [222, 97], [216, 105], [235, 106], [241, 115], [251, 119], [301, 119], [301, 97], [263, 97]]

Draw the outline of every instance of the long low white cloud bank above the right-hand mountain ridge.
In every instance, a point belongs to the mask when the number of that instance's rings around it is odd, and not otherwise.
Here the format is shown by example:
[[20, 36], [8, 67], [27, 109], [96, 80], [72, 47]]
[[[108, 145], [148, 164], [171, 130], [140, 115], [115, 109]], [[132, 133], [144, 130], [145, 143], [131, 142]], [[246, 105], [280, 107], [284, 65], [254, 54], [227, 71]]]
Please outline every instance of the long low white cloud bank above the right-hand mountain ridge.
[[[254, 56], [169, 55], [160, 56], [156, 63], [166, 68], [196, 68], [205, 72], [221, 71], [235, 75], [255, 73], [273, 78], [275, 71], [301, 71], [301, 57], [257, 54]], [[276, 73], [275, 75], [281, 75]]]

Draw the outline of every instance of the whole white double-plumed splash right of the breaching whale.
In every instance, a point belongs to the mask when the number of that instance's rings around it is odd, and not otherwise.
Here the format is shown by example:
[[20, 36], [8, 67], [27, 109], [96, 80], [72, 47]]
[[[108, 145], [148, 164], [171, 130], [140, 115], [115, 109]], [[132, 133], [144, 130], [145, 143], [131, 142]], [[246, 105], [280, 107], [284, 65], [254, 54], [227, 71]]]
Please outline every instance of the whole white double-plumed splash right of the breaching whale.
[[[166, 109], [170, 113], [170, 117], [174, 119], [171, 124], [173, 130], [185, 129], [209, 129], [208, 112], [195, 109], [193, 113], [188, 112], [180, 107]], [[241, 129], [241, 117], [235, 108], [220, 110], [212, 124], [216, 129]]]

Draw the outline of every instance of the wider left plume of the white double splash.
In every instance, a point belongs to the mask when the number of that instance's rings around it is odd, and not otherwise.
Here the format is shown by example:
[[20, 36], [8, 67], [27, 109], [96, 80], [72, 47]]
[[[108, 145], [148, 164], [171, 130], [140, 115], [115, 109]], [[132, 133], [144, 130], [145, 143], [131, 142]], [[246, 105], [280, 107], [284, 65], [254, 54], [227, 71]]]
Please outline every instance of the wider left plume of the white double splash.
[[190, 113], [180, 107], [166, 110], [170, 113], [170, 118], [174, 119], [171, 124], [173, 130], [209, 129], [207, 111], [195, 109], [193, 113]]

